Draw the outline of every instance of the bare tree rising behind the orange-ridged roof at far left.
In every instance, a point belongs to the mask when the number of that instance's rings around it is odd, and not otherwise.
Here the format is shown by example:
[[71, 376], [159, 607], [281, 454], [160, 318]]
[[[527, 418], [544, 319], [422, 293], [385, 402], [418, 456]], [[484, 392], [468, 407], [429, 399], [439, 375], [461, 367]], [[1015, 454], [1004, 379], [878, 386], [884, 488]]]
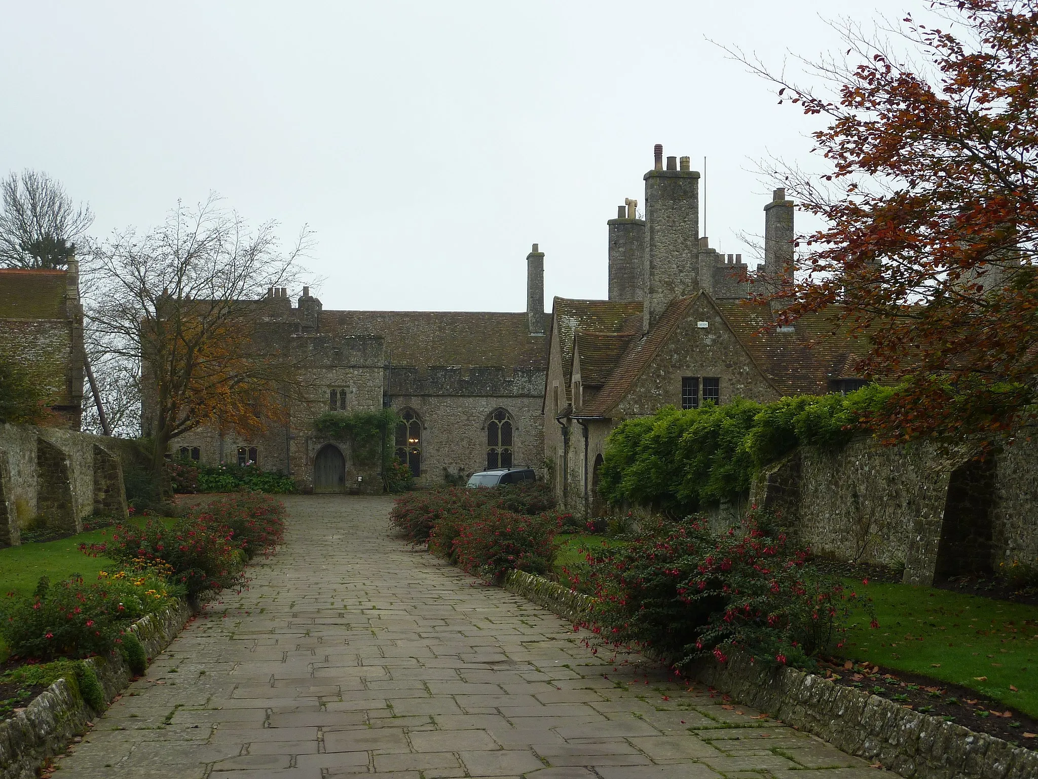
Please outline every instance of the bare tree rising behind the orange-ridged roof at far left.
[[0, 181], [0, 266], [60, 267], [93, 222], [90, 207], [74, 206], [61, 183], [44, 172], [11, 172]]

